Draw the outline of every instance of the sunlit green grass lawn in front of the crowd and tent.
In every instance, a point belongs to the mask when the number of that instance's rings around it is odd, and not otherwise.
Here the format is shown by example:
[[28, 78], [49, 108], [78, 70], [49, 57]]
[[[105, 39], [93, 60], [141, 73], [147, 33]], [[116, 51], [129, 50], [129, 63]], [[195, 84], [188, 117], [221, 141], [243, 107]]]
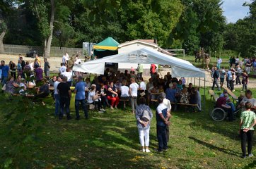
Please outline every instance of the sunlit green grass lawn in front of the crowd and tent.
[[[48, 102], [52, 103], [50, 98]], [[158, 143], [155, 107], [152, 107], [151, 153], [146, 154], [139, 151], [136, 120], [130, 108], [107, 109], [107, 113], [90, 111], [89, 120], [77, 121], [73, 96], [73, 119], [57, 120], [53, 116], [54, 107], [47, 104], [48, 120], [42, 124], [40, 141], [28, 146], [33, 146], [37, 154], [33, 161], [35, 168], [255, 168], [255, 157], [240, 158], [239, 120], [216, 123], [209, 117], [211, 109], [212, 103], [206, 96], [205, 112], [186, 112], [185, 108], [173, 112], [169, 150], [158, 154], [153, 151]], [[0, 128], [4, 125], [0, 123]], [[8, 146], [11, 145], [2, 137], [0, 151]], [[253, 152], [256, 155], [255, 147]]]

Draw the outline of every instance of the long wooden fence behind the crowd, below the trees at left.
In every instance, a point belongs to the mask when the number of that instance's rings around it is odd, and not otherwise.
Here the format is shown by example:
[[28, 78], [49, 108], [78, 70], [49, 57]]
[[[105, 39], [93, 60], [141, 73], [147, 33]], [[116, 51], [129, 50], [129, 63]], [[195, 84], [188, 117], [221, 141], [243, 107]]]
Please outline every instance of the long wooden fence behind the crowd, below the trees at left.
[[[44, 48], [43, 46], [24, 46], [24, 45], [13, 45], [13, 44], [4, 44], [4, 54], [22, 54], [25, 55], [29, 51], [37, 51], [39, 56], [43, 55]], [[68, 53], [69, 56], [80, 52], [82, 54], [82, 48], [66, 48], [66, 47], [51, 47], [50, 56], [52, 57], [62, 57], [64, 53]]]

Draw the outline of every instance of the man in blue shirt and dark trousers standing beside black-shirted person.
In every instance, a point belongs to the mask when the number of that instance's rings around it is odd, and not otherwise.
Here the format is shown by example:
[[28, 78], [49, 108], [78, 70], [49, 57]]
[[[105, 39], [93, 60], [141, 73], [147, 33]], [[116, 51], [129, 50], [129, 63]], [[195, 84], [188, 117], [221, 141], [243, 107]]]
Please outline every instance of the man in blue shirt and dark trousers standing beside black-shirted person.
[[86, 82], [83, 82], [83, 77], [78, 76], [78, 83], [75, 87], [75, 109], [76, 109], [76, 120], [80, 120], [79, 105], [83, 108], [84, 115], [88, 119], [88, 108], [86, 106]]

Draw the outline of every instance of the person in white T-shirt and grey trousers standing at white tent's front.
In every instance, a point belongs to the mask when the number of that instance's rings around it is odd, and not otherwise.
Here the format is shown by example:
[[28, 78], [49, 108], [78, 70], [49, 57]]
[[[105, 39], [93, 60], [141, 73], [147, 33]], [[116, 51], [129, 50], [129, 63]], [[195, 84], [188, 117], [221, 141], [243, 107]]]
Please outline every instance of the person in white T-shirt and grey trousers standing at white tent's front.
[[138, 89], [139, 89], [139, 84], [137, 84], [135, 82], [135, 79], [132, 77], [131, 84], [129, 85], [129, 94], [131, 95], [130, 101], [132, 106], [132, 113], [135, 113], [135, 108], [137, 107]]

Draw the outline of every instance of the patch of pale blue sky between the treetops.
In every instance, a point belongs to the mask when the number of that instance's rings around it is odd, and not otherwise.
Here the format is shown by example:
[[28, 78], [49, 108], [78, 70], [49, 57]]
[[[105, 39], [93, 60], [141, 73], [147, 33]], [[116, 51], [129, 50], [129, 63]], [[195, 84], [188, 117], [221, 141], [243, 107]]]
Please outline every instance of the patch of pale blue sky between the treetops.
[[249, 13], [249, 7], [243, 3], [250, 0], [223, 0], [223, 14], [228, 23], [236, 23], [237, 20], [245, 18]]

